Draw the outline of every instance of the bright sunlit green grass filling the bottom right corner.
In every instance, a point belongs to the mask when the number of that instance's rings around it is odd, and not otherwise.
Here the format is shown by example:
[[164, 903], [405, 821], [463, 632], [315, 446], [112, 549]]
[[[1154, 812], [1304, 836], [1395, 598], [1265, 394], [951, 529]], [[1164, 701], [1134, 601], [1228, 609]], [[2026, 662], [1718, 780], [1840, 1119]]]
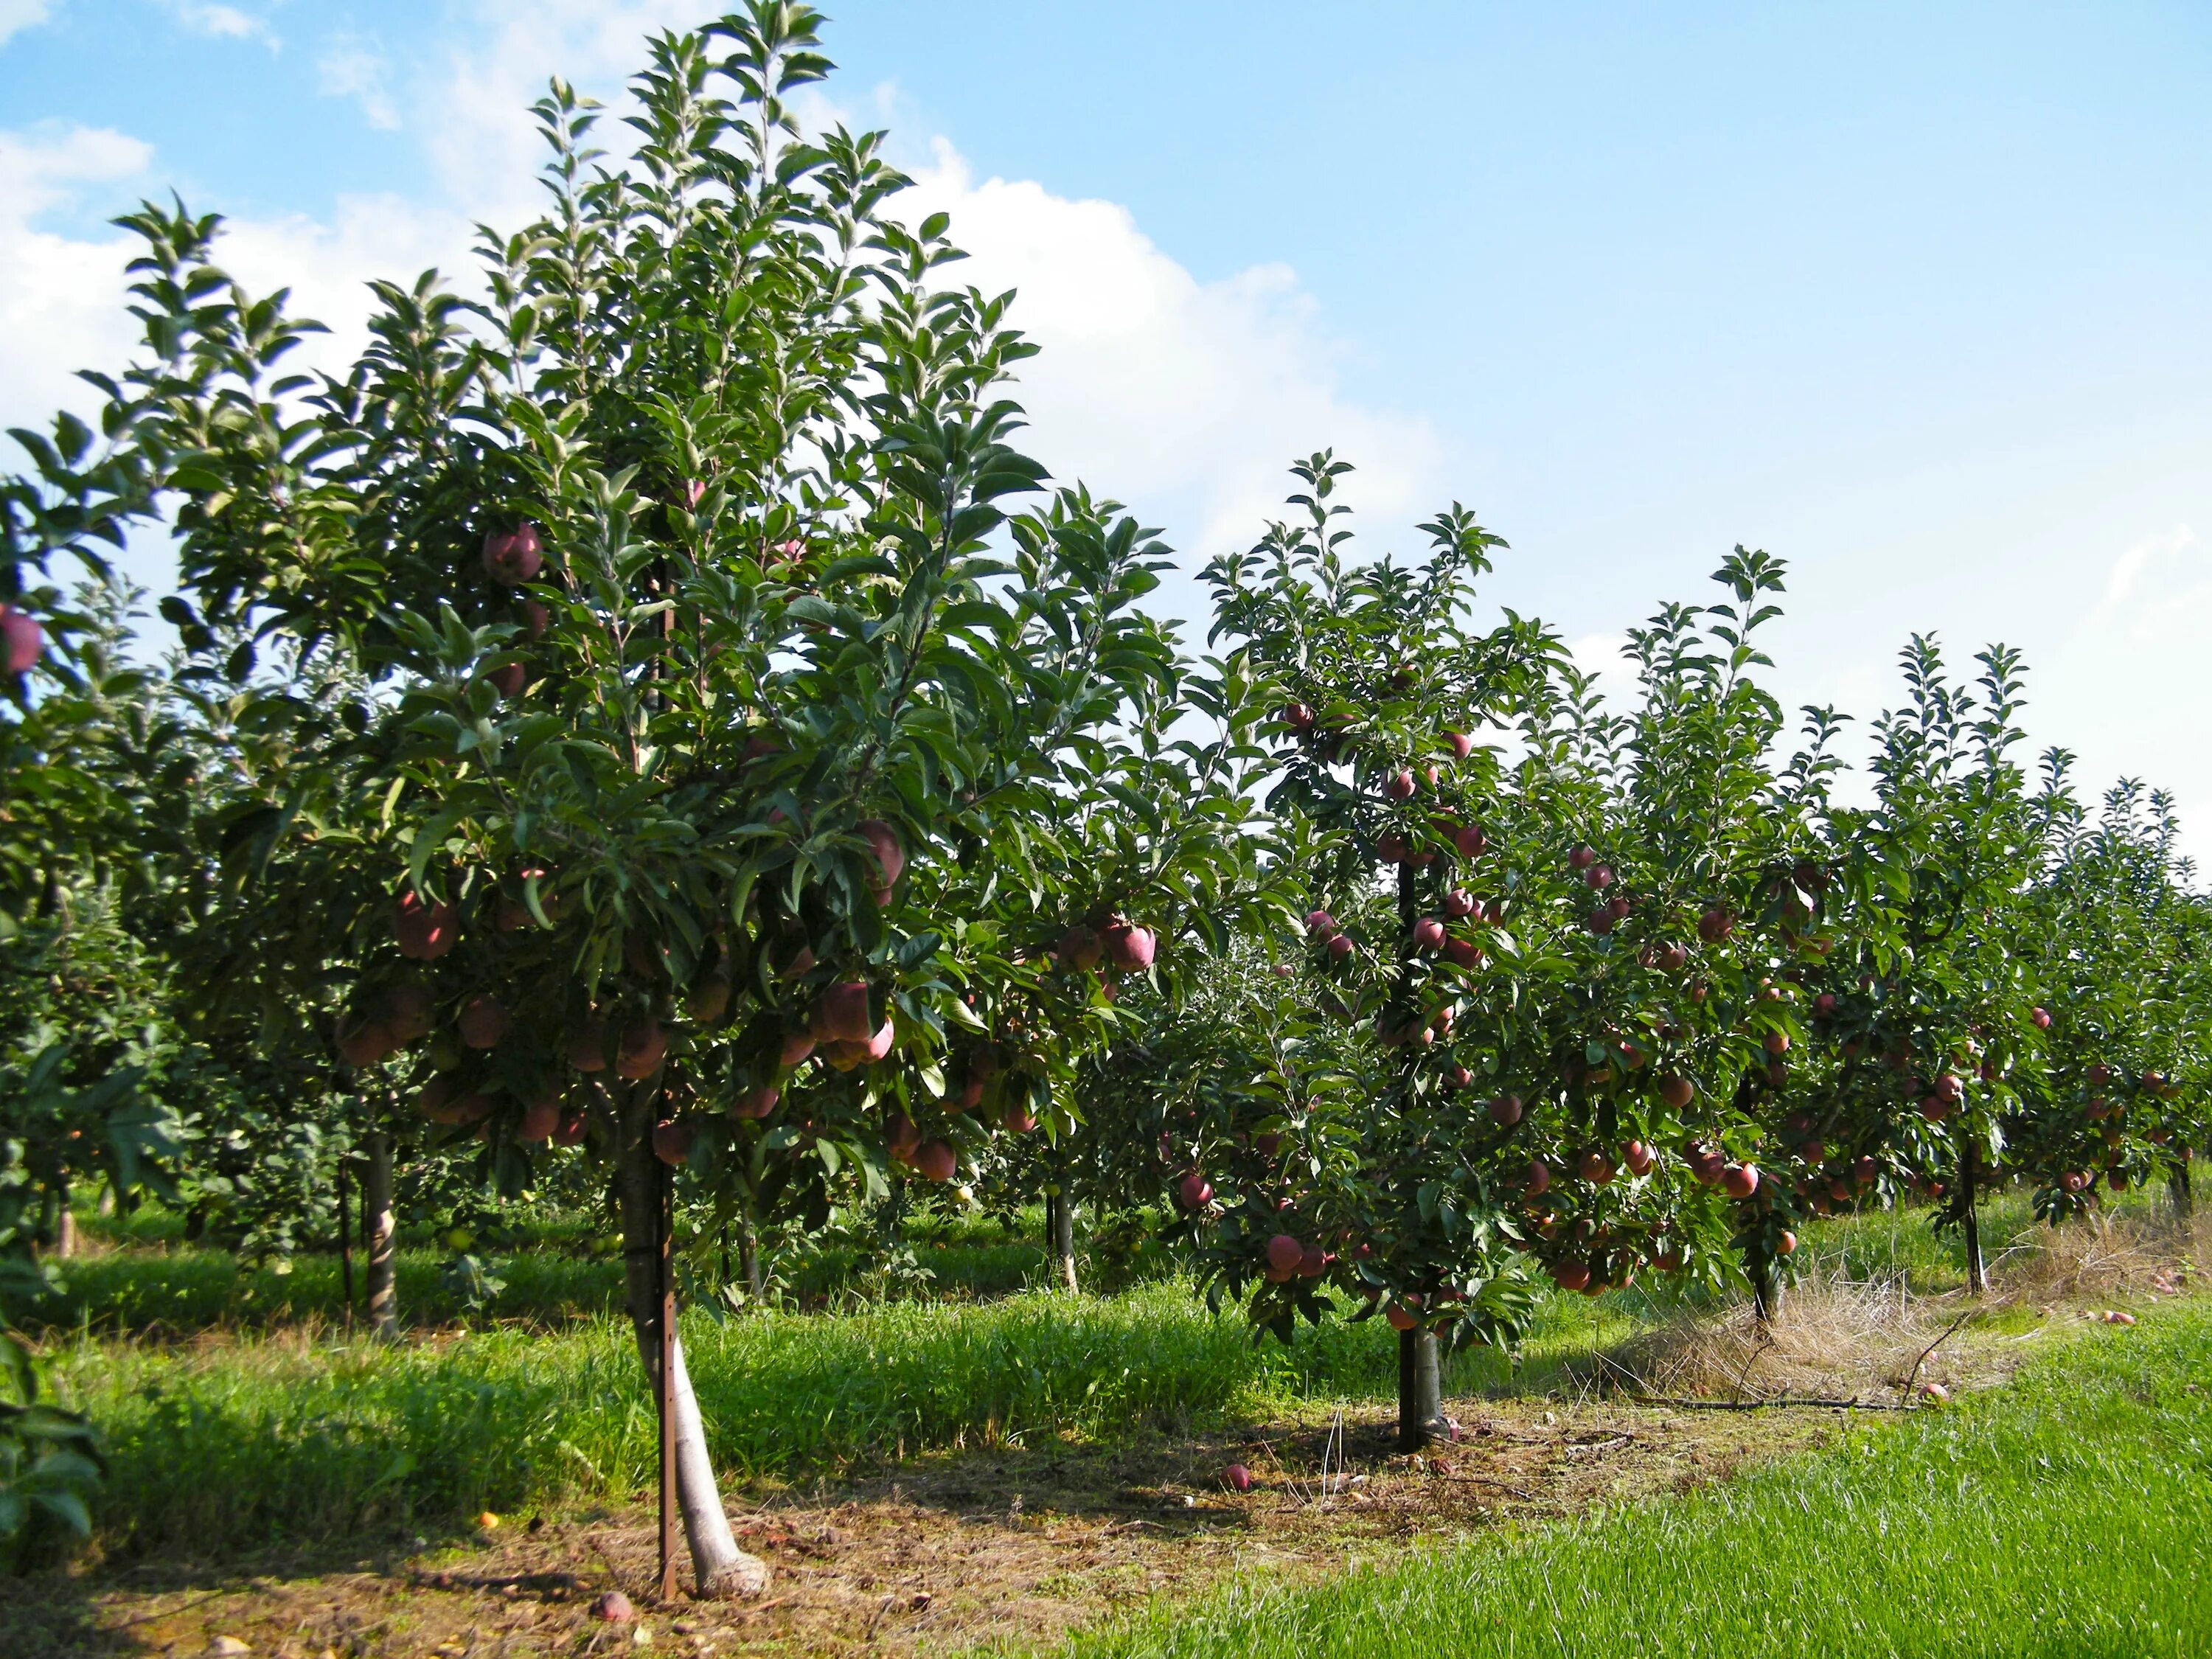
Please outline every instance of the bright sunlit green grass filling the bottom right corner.
[[2212, 1652], [2212, 1307], [1741, 1480], [1318, 1588], [1157, 1604], [1079, 1659]]

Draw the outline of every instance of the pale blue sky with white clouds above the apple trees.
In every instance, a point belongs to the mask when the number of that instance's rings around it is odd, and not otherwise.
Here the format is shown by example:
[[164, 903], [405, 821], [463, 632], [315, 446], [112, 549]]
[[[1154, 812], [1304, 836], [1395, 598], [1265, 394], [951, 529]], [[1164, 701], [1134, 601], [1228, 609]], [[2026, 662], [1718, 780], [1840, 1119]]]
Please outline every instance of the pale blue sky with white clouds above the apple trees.
[[[1787, 699], [1871, 714], [1909, 630], [2002, 637], [2035, 741], [2212, 847], [2212, 9], [827, 11], [827, 100], [1022, 288], [1037, 449], [1192, 564], [1332, 442], [1378, 546], [1467, 500], [1495, 595], [1593, 661], [1763, 544]], [[234, 215], [343, 327], [529, 206], [549, 71], [615, 91], [695, 15], [0, 0], [0, 414], [122, 347], [137, 195]]]

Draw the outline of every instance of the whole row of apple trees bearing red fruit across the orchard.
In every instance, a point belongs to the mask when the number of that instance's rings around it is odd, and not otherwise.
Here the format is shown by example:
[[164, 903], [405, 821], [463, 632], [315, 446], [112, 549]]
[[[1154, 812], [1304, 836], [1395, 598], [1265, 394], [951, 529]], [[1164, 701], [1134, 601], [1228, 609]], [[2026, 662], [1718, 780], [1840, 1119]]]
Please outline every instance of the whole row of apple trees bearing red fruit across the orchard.
[[[889, 217], [878, 135], [792, 119], [816, 24], [655, 40], [624, 161], [555, 84], [546, 215], [476, 299], [378, 285], [343, 376], [217, 221], [124, 221], [146, 352], [0, 487], [15, 1261], [73, 1186], [250, 1214], [292, 1168], [261, 1210], [312, 1219], [358, 1157], [389, 1318], [396, 1168], [595, 1186], [697, 1584], [750, 1593], [675, 1170], [748, 1241], [998, 1183], [1066, 1256], [1075, 1190], [1166, 1197], [1263, 1325], [1389, 1318], [1409, 1438], [1540, 1274], [1770, 1303], [1823, 1208], [2183, 1170], [2203, 905], [2161, 801], [2031, 787], [2006, 653], [1960, 688], [1916, 641], [1847, 805], [1838, 714], [1778, 761], [1776, 560], [1639, 630], [1608, 712], [1478, 622], [1473, 515], [1356, 560], [1318, 456], [1192, 659], [1166, 549], [1015, 447], [1009, 296]], [[161, 672], [100, 597], [150, 533]], [[35, 1425], [73, 1520], [82, 1425]]]

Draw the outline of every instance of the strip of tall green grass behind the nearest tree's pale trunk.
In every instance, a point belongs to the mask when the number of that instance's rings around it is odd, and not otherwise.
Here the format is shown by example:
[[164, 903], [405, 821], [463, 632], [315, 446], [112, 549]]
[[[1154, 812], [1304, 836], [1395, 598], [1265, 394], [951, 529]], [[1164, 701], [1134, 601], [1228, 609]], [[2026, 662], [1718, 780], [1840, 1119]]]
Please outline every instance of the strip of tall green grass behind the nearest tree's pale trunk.
[[[1183, 1283], [843, 1316], [695, 1314], [684, 1343], [717, 1467], [732, 1475], [1099, 1438], [1396, 1385], [1380, 1321], [1307, 1329], [1285, 1349], [1254, 1343], [1237, 1314], [1208, 1314]], [[617, 1321], [400, 1347], [80, 1340], [55, 1356], [55, 1378], [106, 1436], [100, 1526], [119, 1553], [204, 1557], [626, 1498], [655, 1449]]]

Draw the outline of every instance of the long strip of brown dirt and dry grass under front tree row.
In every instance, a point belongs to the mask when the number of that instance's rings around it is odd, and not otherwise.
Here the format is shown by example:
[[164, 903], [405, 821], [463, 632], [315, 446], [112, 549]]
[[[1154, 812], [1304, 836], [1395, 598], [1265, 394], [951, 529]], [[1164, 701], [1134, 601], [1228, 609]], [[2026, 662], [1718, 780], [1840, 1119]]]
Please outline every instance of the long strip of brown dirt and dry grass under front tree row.
[[[2132, 1307], [2148, 1323], [2161, 1305], [2201, 1310], [2212, 1283], [2208, 1225], [2022, 1232], [1995, 1292], [1969, 1303], [1944, 1263], [1896, 1263], [1924, 1248], [1916, 1225], [1834, 1228], [1818, 1259], [1829, 1276], [1807, 1276], [1772, 1336], [1741, 1310], [1666, 1316], [1566, 1298], [1524, 1371], [1460, 1371], [1458, 1440], [1420, 1458], [1394, 1453], [1387, 1405], [1365, 1398], [1274, 1405], [1214, 1431], [1102, 1425], [878, 1460], [845, 1480], [734, 1484], [741, 1542], [774, 1568], [768, 1599], [750, 1606], [655, 1604], [648, 1493], [522, 1506], [436, 1544], [95, 1557], [0, 1579], [0, 1655], [1055, 1648], [1075, 1630], [1144, 1628], [1159, 1606], [1329, 1593], [1356, 1571], [1387, 1575], [1471, 1540], [1540, 1540], [1624, 1500], [1672, 1502], [1787, 1453], [1849, 1449], [1854, 1436], [1924, 1420], [1918, 1385], [2002, 1389], [2028, 1358], [2068, 1365], [2077, 1336], [2135, 1336], [2099, 1314]], [[1805, 1396], [1860, 1409], [1759, 1405]], [[1252, 1491], [1223, 1484], [1232, 1462], [1250, 1467]], [[611, 1588], [635, 1601], [635, 1626], [591, 1615]]]

